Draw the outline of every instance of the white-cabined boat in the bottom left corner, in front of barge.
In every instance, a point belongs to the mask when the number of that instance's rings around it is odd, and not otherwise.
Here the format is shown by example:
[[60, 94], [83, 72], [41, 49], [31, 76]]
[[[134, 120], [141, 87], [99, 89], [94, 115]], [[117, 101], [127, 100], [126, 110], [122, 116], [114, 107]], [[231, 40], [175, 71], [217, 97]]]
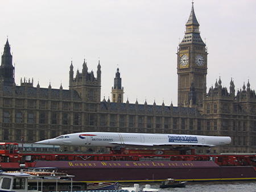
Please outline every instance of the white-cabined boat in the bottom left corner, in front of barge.
[[117, 182], [85, 183], [73, 181], [67, 173], [49, 169], [30, 169], [0, 172], [0, 191], [112, 191], [119, 189]]

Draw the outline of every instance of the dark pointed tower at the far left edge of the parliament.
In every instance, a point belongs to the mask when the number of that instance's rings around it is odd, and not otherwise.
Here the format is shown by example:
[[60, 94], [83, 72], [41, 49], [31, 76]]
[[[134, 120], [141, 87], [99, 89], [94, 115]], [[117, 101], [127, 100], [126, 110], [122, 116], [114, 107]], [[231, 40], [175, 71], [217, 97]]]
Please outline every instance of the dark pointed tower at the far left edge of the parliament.
[[0, 81], [3, 85], [13, 86], [14, 82], [14, 66], [13, 56], [11, 55], [11, 48], [7, 39], [2, 55], [2, 62], [0, 66]]

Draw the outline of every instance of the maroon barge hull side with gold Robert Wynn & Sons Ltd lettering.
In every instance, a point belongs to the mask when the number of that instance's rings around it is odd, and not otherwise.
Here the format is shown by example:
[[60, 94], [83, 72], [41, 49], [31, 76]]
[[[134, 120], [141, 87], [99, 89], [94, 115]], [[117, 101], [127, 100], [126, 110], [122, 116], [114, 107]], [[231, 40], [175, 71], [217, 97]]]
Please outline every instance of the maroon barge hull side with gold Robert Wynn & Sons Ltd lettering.
[[212, 161], [38, 161], [84, 182], [151, 182], [256, 180], [253, 166], [219, 166]]

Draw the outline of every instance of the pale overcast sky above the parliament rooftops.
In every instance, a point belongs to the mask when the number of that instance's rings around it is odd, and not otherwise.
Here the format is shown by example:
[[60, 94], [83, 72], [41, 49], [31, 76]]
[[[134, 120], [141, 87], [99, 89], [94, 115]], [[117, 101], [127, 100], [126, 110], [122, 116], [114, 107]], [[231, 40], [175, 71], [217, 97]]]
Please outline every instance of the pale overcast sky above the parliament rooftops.
[[[194, 8], [208, 47], [207, 87], [221, 76], [236, 90], [256, 76], [256, 1], [196, 0]], [[177, 105], [177, 46], [191, 11], [190, 0], [1, 1], [0, 51], [9, 37], [15, 82], [68, 89], [69, 66], [84, 58], [96, 74], [100, 57], [101, 98], [108, 98], [119, 66], [124, 100]], [[110, 98], [111, 99], [111, 98]]]

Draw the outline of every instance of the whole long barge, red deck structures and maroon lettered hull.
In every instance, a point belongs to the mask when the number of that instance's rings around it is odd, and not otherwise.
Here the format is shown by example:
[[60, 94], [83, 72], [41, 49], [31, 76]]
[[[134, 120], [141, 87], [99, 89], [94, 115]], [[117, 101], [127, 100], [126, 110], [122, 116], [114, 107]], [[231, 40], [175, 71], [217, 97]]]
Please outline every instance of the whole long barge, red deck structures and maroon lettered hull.
[[[174, 178], [177, 181], [256, 180], [256, 155], [147, 155], [19, 153], [15, 143], [2, 143], [0, 166], [20, 168], [57, 168], [85, 182], [151, 182]], [[10, 147], [13, 146], [13, 147]], [[11, 150], [10, 150], [11, 148]]]

